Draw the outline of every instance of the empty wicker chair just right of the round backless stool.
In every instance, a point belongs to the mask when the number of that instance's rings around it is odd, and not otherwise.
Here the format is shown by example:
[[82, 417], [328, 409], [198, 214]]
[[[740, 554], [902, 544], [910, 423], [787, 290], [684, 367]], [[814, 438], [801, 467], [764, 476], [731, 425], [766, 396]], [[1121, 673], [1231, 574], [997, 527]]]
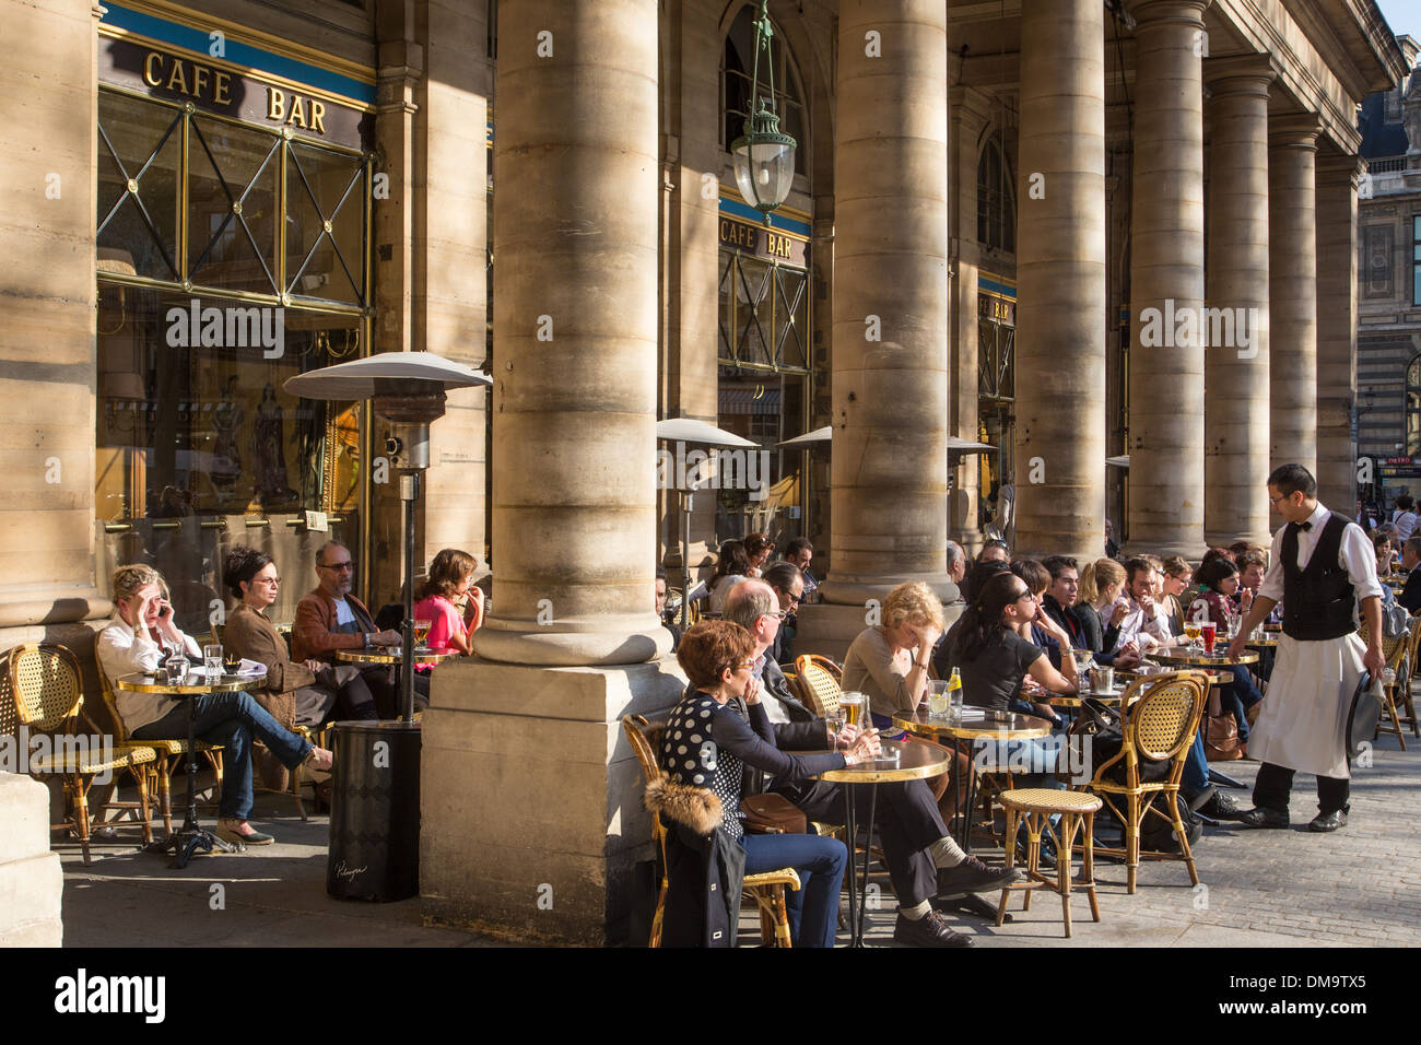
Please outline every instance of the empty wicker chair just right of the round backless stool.
[[[1121, 700], [1125, 708], [1123, 718], [1123, 744], [1120, 751], [1096, 766], [1088, 783], [1077, 791], [1097, 795], [1110, 812], [1124, 825], [1123, 849], [1094, 846], [1103, 856], [1118, 856], [1128, 869], [1128, 891], [1135, 891], [1135, 872], [1140, 867], [1140, 827], [1145, 815], [1154, 815], [1174, 825], [1179, 839], [1179, 853], [1145, 853], [1150, 860], [1184, 860], [1189, 869], [1189, 883], [1199, 884], [1199, 872], [1194, 866], [1189, 839], [1179, 819], [1179, 778], [1189, 755], [1194, 734], [1199, 729], [1204, 714], [1204, 698], [1209, 691], [1209, 677], [1202, 671], [1171, 671], [1162, 675], [1145, 675], [1130, 684]], [[1169, 772], [1162, 781], [1141, 781], [1141, 761], [1168, 761]], [[1124, 781], [1114, 775], [1124, 769]], [[1162, 795], [1168, 813], [1151, 803], [1155, 795]], [[1059, 856], [1064, 856], [1064, 846]]]

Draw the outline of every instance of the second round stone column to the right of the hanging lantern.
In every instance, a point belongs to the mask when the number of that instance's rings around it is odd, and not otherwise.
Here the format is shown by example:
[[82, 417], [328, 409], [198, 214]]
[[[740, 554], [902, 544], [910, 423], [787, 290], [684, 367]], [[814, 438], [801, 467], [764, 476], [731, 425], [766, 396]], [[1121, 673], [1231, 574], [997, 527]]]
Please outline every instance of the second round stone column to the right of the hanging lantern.
[[1016, 552], [1088, 562], [1106, 536], [1104, 7], [1022, 4]]

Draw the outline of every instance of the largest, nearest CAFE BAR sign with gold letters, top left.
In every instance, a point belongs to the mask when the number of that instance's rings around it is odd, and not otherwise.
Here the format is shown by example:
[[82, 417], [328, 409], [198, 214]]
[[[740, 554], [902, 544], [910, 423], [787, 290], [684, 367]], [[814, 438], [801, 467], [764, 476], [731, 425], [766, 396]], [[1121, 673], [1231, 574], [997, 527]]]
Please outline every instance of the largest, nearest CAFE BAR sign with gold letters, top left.
[[126, 37], [99, 38], [98, 78], [153, 98], [192, 102], [205, 112], [271, 129], [290, 128], [294, 135], [351, 149], [365, 148], [372, 129], [369, 112], [341, 104], [330, 94], [277, 84], [216, 60]]

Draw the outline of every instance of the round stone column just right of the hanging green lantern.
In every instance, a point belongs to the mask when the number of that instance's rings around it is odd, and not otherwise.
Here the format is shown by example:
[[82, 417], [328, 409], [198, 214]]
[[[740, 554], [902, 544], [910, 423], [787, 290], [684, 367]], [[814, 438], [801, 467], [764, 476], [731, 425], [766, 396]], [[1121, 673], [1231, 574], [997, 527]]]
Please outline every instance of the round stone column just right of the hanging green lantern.
[[831, 570], [821, 591], [861, 607], [905, 580], [944, 593], [951, 584], [946, 10], [941, 0], [848, 1], [838, 31]]

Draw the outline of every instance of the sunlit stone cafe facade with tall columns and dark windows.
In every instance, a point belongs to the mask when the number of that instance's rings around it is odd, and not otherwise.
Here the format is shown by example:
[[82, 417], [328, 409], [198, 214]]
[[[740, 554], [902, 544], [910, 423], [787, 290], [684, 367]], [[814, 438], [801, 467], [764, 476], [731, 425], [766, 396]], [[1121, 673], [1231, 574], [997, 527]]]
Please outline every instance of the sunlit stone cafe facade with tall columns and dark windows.
[[[433, 425], [418, 530], [419, 562], [458, 546], [495, 576], [479, 663], [441, 667], [425, 719], [426, 913], [600, 941], [647, 856], [618, 719], [682, 685], [649, 601], [681, 522], [655, 419], [763, 451], [762, 488], [696, 498], [692, 564], [809, 536], [827, 603], [801, 634], [840, 655], [867, 599], [945, 583], [946, 539], [978, 547], [1006, 485], [1023, 550], [1083, 557], [1107, 510], [1164, 553], [1266, 537], [1280, 459], [1350, 503], [1356, 267], [1333, 260], [1356, 257], [1356, 104], [1403, 71], [1370, 0], [774, 0], [797, 152], [767, 223], [729, 152], [757, 7], [9, 4], [45, 43], [0, 71], [0, 644], [92, 671], [121, 562], [205, 630], [236, 543], [277, 560], [279, 617], [333, 537], [391, 601], [384, 431], [283, 382], [374, 351], [483, 367]], [[1269, 296], [1272, 353], [1141, 347], [1151, 307]], [[777, 445], [823, 425], [833, 448]], [[470, 823], [448, 798], [550, 775], [557, 809]]]

